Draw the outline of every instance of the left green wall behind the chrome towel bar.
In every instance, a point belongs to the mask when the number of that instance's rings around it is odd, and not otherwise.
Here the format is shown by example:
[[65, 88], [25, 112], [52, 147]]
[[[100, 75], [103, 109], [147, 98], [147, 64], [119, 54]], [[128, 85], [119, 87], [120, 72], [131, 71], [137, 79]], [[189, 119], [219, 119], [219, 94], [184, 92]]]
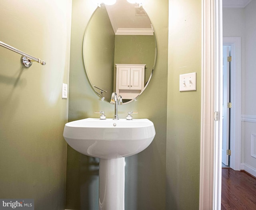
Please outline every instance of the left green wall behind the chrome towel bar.
[[0, 46], [0, 198], [65, 209], [71, 0], [1, 0], [0, 41], [46, 61], [22, 67]]

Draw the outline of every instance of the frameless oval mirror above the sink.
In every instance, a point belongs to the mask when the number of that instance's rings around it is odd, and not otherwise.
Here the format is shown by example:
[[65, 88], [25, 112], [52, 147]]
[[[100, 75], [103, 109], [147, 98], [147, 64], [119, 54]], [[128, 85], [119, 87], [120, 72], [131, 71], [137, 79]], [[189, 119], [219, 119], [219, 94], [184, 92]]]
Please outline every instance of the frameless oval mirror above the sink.
[[126, 0], [101, 4], [86, 27], [83, 57], [90, 84], [102, 100], [110, 102], [112, 92], [123, 103], [135, 100], [156, 62], [155, 34], [142, 6]]

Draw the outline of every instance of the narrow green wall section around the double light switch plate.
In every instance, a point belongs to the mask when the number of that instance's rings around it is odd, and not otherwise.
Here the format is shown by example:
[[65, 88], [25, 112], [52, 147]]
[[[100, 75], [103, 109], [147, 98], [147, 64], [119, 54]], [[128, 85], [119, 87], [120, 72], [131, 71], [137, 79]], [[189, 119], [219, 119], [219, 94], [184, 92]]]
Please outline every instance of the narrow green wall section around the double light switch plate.
[[[166, 209], [198, 210], [200, 179], [201, 0], [169, 0]], [[196, 91], [179, 75], [196, 72]]]

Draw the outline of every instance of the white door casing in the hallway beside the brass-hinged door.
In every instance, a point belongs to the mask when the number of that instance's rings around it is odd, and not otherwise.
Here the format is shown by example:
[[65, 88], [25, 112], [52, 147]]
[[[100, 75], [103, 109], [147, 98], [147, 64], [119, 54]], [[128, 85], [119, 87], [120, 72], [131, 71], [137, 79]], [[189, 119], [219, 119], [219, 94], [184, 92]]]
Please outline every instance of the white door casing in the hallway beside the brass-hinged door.
[[241, 37], [223, 37], [223, 45], [231, 46], [230, 97], [232, 108], [230, 110], [230, 168], [241, 170]]

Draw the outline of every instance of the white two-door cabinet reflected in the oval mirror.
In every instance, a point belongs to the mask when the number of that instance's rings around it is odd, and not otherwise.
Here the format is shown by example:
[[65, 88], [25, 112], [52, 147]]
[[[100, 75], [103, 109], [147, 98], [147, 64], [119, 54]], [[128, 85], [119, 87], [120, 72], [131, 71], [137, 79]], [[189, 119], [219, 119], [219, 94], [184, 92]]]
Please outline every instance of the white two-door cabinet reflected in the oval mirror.
[[116, 93], [123, 99], [136, 98], [144, 88], [146, 64], [116, 64]]

